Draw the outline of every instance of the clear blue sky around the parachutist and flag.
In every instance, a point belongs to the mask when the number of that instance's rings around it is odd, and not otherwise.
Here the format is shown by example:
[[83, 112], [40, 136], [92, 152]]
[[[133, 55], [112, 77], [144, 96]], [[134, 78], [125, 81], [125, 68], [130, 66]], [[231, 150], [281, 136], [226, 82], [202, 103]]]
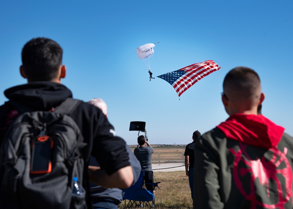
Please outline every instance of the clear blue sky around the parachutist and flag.
[[[0, 91], [26, 83], [21, 49], [48, 37], [64, 50], [62, 84], [75, 98], [102, 98], [118, 136], [137, 143], [130, 121], [145, 121], [151, 144], [187, 144], [192, 133], [227, 119], [222, 82], [236, 66], [253, 68], [263, 114], [293, 135], [293, 1], [0, 1]], [[221, 69], [185, 91], [149, 81], [136, 48], [155, 43], [153, 76], [214, 60]], [[0, 103], [7, 99], [0, 94]]]

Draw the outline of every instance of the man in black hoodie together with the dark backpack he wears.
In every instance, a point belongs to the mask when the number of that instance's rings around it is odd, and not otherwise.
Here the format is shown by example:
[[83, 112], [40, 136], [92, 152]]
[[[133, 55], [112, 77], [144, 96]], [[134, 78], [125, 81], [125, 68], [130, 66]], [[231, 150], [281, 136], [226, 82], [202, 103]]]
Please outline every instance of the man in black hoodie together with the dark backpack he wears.
[[[72, 99], [61, 84], [62, 52], [48, 38], [30, 40], [20, 67], [28, 83], [4, 91], [9, 101], [0, 107], [1, 208], [86, 208], [89, 180], [118, 188], [133, 183], [125, 141], [99, 108]], [[101, 169], [88, 169], [91, 155]], [[73, 188], [79, 191], [73, 194]]]

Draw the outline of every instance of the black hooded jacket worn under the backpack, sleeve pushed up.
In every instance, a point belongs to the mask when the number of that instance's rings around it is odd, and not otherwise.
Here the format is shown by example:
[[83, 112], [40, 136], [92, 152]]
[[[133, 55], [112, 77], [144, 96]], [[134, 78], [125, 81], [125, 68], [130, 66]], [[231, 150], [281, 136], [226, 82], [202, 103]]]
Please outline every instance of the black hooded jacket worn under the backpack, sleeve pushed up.
[[[60, 105], [66, 98], [72, 97], [71, 91], [62, 84], [53, 82], [32, 82], [18, 85], [4, 91], [5, 96], [13, 102], [37, 111], [48, 111]], [[11, 105], [0, 106], [0, 143], [9, 124], [18, 115]], [[130, 165], [125, 148], [125, 141], [115, 135], [113, 126], [103, 112], [86, 102], [81, 104], [70, 115], [79, 126], [87, 143], [86, 155], [96, 157], [100, 167], [107, 174], [112, 174], [122, 167]], [[88, 160], [88, 159], [86, 159]]]

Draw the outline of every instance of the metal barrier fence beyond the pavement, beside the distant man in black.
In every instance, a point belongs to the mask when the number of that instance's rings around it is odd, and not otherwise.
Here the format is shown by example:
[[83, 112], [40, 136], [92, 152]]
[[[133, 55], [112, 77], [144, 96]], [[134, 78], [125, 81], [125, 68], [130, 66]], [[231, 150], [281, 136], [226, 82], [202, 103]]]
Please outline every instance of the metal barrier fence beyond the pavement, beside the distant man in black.
[[153, 153], [151, 156], [152, 164], [161, 163], [182, 163], [184, 165], [183, 153]]

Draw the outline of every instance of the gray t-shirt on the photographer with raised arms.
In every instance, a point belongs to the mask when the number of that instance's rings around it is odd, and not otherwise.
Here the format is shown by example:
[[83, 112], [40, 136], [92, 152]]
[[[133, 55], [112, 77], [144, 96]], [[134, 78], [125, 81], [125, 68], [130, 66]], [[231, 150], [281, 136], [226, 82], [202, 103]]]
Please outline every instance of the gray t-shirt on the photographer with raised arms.
[[134, 155], [140, 162], [142, 166], [142, 171], [151, 171], [151, 154], [154, 153], [154, 149], [152, 147], [139, 147], [134, 149]]

